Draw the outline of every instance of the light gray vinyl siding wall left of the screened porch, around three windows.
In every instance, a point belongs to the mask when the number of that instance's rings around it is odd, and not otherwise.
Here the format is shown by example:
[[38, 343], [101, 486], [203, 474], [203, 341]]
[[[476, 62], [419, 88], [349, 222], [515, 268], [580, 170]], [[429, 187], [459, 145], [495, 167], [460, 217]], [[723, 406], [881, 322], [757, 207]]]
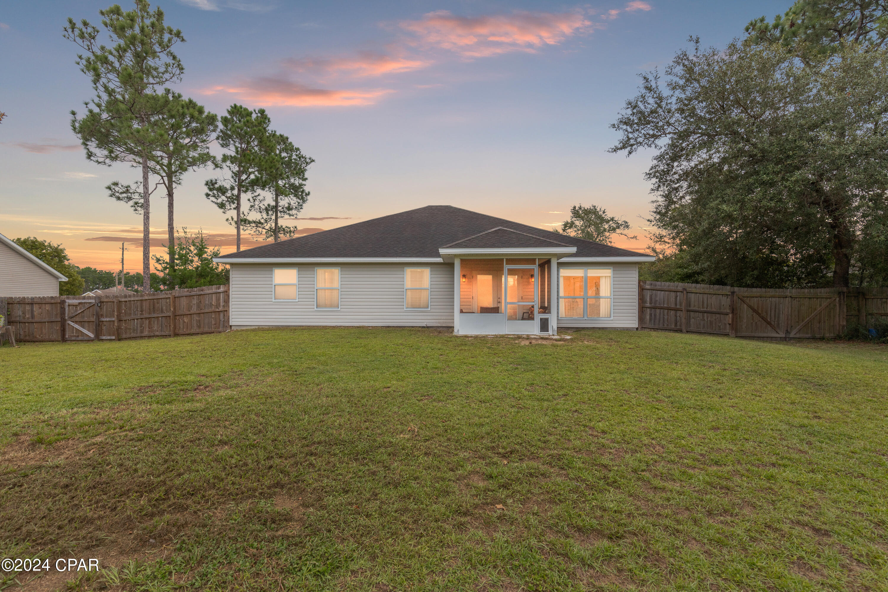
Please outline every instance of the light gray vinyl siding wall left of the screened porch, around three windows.
[[[274, 268], [297, 268], [298, 301], [272, 300]], [[314, 308], [315, 268], [339, 268], [339, 308]], [[404, 268], [430, 268], [428, 309], [404, 309]], [[331, 263], [231, 266], [232, 327], [287, 325], [453, 326], [453, 265]]]

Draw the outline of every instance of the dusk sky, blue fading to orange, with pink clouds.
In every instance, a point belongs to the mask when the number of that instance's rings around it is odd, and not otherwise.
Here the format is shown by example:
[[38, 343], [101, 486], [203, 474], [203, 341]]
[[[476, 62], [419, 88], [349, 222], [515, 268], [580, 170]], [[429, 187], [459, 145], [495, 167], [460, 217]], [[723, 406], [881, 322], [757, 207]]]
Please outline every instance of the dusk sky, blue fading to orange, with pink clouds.
[[[607, 153], [609, 128], [638, 87], [690, 35], [724, 46], [789, 0], [633, 0], [600, 4], [484, 0], [163, 0], [185, 76], [175, 90], [223, 114], [266, 108], [272, 127], [315, 163], [296, 224], [335, 228], [450, 204], [552, 228], [573, 204], [598, 204], [637, 227], [652, 196], [650, 154]], [[0, 233], [61, 243], [75, 264], [141, 269], [141, 217], [107, 196], [138, 180], [83, 156], [69, 111], [91, 98], [62, 38], [67, 17], [99, 24], [108, 1], [0, 2]], [[122, 4], [129, 10], [131, 4]], [[214, 150], [220, 154], [218, 147]], [[234, 250], [233, 228], [203, 196], [218, 172], [189, 172], [177, 226]], [[152, 251], [166, 200], [152, 200]], [[249, 237], [245, 247], [252, 243]]]

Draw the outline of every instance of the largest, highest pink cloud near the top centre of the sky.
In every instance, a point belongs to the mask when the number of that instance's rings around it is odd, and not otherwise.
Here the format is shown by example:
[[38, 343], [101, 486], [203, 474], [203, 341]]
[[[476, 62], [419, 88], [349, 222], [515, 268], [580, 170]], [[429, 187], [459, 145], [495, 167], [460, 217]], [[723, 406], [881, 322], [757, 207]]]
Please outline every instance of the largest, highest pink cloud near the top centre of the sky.
[[591, 28], [579, 12], [514, 12], [480, 17], [454, 16], [448, 11], [429, 12], [421, 20], [402, 20], [400, 27], [422, 43], [485, 57], [506, 52], [535, 52], [556, 45]]

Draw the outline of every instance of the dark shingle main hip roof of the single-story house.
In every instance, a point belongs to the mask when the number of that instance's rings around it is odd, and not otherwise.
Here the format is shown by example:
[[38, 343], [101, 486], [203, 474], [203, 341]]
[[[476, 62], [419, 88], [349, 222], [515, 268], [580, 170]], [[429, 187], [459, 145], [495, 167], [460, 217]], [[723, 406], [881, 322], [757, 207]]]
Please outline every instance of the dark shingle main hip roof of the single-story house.
[[[499, 232], [498, 229], [509, 232]], [[479, 237], [488, 233], [509, 236], [515, 240], [518, 233], [526, 233], [524, 239], [536, 237], [543, 244], [554, 246], [567, 244], [576, 247], [573, 257], [637, 257], [638, 252], [619, 249], [608, 244], [592, 243], [574, 236], [559, 235], [550, 230], [534, 228], [527, 224], [519, 224], [471, 212], [452, 205], [426, 205], [424, 208], [408, 210], [324, 230], [313, 235], [297, 236], [274, 244], [263, 244], [242, 252], [231, 252], [223, 255], [221, 260], [238, 259], [273, 259], [273, 258], [315, 258], [315, 257], [440, 257], [438, 249], [465, 239]], [[529, 236], [527, 236], [529, 235]], [[524, 240], [521, 239], [521, 240]], [[542, 242], [544, 241], [544, 243]], [[480, 244], [472, 247], [482, 248]], [[516, 246], [514, 244], [487, 244], [486, 246]], [[520, 246], [536, 246], [521, 244]]]

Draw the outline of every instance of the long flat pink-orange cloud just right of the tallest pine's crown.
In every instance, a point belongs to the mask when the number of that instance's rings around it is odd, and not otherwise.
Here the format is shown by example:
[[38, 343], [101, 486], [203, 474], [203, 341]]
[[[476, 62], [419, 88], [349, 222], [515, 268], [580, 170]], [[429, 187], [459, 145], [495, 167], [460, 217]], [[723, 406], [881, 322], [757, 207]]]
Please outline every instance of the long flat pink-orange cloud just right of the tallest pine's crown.
[[258, 107], [350, 107], [372, 105], [394, 92], [390, 89], [329, 90], [311, 88], [282, 78], [265, 76], [255, 78], [239, 86], [213, 86], [203, 94], [227, 92]]

